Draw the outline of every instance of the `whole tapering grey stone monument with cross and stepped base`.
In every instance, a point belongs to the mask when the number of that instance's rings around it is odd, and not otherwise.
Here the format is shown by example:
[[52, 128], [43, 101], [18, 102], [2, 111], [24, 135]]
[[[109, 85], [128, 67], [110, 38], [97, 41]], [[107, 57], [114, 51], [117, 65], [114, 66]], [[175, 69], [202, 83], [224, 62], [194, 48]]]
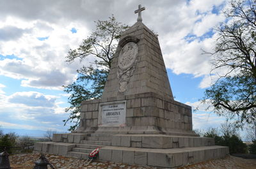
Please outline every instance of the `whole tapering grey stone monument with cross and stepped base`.
[[82, 102], [76, 131], [36, 143], [35, 151], [164, 168], [198, 163], [228, 154], [192, 129], [191, 107], [173, 99], [156, 34], [142, 23], [122, 34], [101, 99]]

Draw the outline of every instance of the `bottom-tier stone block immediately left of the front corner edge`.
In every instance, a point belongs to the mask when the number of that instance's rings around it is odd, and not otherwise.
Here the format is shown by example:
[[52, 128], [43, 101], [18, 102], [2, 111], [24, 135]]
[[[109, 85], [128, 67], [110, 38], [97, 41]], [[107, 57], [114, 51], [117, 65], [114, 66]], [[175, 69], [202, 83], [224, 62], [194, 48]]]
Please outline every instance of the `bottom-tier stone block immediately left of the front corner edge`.
[[148, 152], [147, 165], [170, 168], [170, 158], [164, 153]]

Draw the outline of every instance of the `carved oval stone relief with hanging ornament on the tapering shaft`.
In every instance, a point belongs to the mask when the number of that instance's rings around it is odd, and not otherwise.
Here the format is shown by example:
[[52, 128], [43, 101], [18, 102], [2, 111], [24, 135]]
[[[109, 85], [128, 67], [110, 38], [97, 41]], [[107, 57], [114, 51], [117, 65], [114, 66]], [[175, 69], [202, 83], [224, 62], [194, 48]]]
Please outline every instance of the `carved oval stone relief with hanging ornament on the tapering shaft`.
[[128, 42], [122, 47], [118, 56], [118, 69], [116, 71], [119, 81], [119, 92], [124, 92], [127, 89], [129, 80], [136, 67], [138, 56], [138, 45], [134, 42]]

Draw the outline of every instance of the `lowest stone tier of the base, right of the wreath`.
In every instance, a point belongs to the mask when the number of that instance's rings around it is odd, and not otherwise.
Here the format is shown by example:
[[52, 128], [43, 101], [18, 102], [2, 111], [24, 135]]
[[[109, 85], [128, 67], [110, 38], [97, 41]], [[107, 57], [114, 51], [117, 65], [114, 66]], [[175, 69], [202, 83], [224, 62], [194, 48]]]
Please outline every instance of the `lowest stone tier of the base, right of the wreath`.
[[180, 166], [199, 163], [228, 155], [228, 147], [204, 146], [182, 149], [144, 149], [127, 147], [102, 147], [99, 159], [128, 163], [129, 165], [147, 165], [156, 168], [179, 168]]

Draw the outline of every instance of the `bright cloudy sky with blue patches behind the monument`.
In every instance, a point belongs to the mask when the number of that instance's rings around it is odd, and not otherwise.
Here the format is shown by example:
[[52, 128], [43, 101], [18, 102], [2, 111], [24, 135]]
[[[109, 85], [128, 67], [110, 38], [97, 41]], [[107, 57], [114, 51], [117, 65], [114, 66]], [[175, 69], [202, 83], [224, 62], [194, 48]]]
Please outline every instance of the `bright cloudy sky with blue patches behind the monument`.
[[[224, 0], [2, 0], [0, 1], [0, 126], [12, 129], [67, 131], [68, 95], [84, 62], [67, 64], [76, 48], [95, 29], [95, 20], [113, 14], [132, 26], [138, 4], [145, 6], [143, 23], [159, 34], [164, 62], [177, 101], [198, 106], [211, 84], [209, 55], [216, 34], [212, 27], [225, 20]], [[193, 113], [194, 128], [219, 126], [224, 121], [205, 105]]]

